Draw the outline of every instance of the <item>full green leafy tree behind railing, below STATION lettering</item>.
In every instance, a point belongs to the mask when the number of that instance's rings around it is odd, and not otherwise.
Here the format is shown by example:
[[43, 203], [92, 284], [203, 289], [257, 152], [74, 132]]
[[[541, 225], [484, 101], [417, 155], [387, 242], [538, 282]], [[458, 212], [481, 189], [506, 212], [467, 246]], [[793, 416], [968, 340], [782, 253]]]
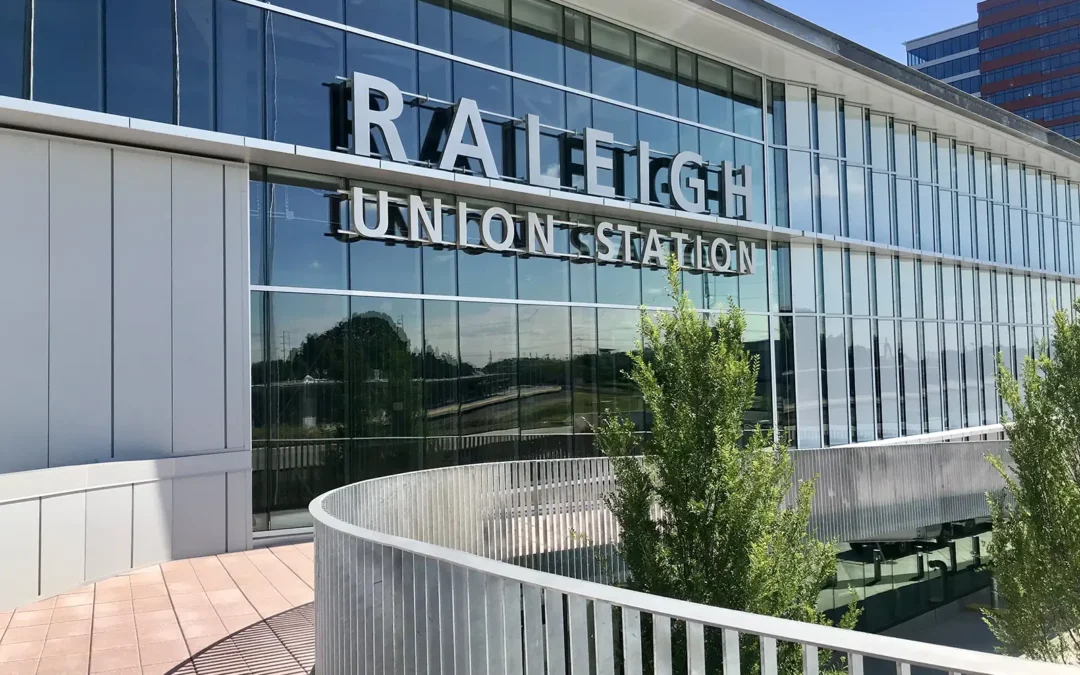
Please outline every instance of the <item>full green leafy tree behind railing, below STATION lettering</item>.
[[[800, 483], [785, 508], [793, 485], [786, 445], [760, 427], [744, 433], [759, 367], [743, 345], [744, 316], [732, 305], [711, 325], [683, 292], [674, 256], [667, 281], [673, 309], [654, 318], [643, 311], [643, 343], [630, 355], [630, 377], [652, 411], [651, 437], [642, 442], [618, 414], [596, 434], [616, 473], [609, 507], [622, 529], [629, 586], [828, 624], [816, 602], [836, 557], [810, 530], [814, 485]], [[858, 617], [851, 607], [840, 625], [853, 627]], [[743, 640], [744, 663], [757, 663], [757, 649], [756, 639]], [[708, 662], [719, 652], [712, 636]], [[781, 672], [802, 672], [794, 646], [779, 657]], [[823, 653], [822, 664], [829, 658]]]

